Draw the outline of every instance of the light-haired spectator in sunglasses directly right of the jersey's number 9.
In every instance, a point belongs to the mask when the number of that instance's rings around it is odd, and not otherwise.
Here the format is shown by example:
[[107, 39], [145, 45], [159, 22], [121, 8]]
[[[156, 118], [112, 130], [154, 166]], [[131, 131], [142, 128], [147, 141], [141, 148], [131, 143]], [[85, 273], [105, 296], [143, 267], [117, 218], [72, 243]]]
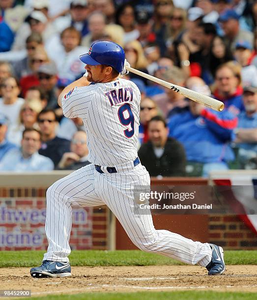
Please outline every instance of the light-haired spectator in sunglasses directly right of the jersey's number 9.
[[140, 103], [139, 144], [148, 141], [148, 123], [158, 115], [156, 103], [151, 98], [144, 98]]

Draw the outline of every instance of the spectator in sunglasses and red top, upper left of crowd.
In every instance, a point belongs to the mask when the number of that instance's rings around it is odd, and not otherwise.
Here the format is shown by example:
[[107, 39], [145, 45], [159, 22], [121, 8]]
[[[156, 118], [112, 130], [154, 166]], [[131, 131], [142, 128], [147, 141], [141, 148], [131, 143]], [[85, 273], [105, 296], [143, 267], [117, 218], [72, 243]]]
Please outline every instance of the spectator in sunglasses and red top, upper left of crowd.
[[20, 80], [20, 85], [22, 89], [22, 95], [25, 96], [28, 89], [31, 86], [38, 86], [39, 80], [37, 76], [37, 72], [39, 67], [42, 64], [50, 62], [50, 59], [47, 55], [46, 50], [42, 45], [38, 45], [36, 49], [31, 54], [31, 59], [29, 61], [30, 69], [32, 71], [31, 74], [23, 76]]

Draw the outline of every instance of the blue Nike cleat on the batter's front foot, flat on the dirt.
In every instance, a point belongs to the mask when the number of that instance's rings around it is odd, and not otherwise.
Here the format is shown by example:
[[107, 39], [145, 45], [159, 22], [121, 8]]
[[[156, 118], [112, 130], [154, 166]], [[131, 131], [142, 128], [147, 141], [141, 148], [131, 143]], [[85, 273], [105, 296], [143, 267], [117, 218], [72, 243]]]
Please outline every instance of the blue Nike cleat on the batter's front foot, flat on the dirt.
[[71, 276], [70, 263], [44, 260], [40, 267], [30, 269], [30, 275], [34, 278]]

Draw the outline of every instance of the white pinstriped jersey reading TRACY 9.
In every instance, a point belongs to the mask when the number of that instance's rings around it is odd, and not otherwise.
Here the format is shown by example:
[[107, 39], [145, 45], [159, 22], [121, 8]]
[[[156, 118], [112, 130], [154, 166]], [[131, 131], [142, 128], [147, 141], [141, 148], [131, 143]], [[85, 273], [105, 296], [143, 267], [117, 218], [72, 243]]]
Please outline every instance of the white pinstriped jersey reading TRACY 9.
[[83, 119], [90, 162], [115, 166], [137, 158], [140, 101], [136, 84], [122, 78], [75, 87], [62, 98], [64, 116]]

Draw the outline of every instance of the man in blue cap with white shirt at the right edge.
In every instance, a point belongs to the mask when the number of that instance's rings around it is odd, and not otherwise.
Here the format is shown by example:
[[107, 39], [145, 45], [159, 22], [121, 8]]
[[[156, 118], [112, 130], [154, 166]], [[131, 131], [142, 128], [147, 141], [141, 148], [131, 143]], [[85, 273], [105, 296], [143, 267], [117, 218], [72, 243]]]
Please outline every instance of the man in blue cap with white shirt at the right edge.
[[253, 57], [253, 47], [247, 41], [238, 41], [235, 45], [234, 57], [242, 67], [242, 85], [257, 87], [257, 68], [251, 65]]

